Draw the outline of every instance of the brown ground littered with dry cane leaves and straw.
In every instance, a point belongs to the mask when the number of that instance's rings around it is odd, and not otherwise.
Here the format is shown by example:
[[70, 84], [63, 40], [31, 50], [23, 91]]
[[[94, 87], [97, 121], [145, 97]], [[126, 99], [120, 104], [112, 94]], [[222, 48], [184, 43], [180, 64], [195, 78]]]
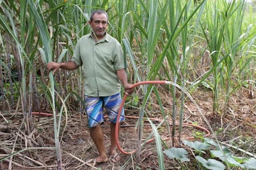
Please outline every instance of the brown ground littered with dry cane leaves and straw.
[[[208, 119], [213, 131], [218, 135], [221, 142], [233, 141], [233, 144], [239, 145], [240, 148], [248, 152], [256, 153], [256, 99], [249, 99], [247, 95], [233, 96], [231, 105], [227, 113], [212, 112], [211, 92], [200, 91], [192, 95], [202, 110], [203, 115]], [[166, 113], [171, 114], [171, 99], [166, 97], [163, 100]], [[202, 115], [198, 113], [194, 103], [186, 102], [184, 111], [184, 123], [197, 123], [198, 126], [205, 127], [209, 130]], [[125, 152], [132, 152], [138, 145], [137, 118], [139, 110], [130, 110], [126, 108], [127, 119], [121, 124], [119, 134], [119, 144]], [[151, 111], [148, 116], [154, 113], [156, 126], [163, 119], [160, 114], [160, 108], [151, 105]], [[177, 116], [178, 118], [179, 116]], [[119, 150], [117, 152], [121, 156], [121, 160], [116, 163], [109, 158], [106, 163], [95, 164], [92, 160], [98, 153], [88, 132], [87, 120], [85, 115], [80, 113], [69, 113], [62, 118], [61, 127], [61, 156], [64, 169], [159, 169], [158, 155], [156, 152], [155, 141], [149, 142], [142, 146], [139, 155], [126, 155]], [[5, 119], [9, 121], [6, 123]], [[168, 116], [169, 126], [172, 129], [171, 115]], [[0, 162], [1, 169], [58, 169], [56, 152], [54, 150], [54, 126], [51, 116], [33, 115], [33, 130], [30, 134], [25, 134], [24, 125], [21, 126], [23, 115], [19, 112], [2, 112], [0, 135], [1, 148], [0, 159], [10, 153], [18, 152], [9, 158], [5, 158]], [[106, 120], [101, 126], [105, 134], [105, 146], [109, 148], [109, 123]], [[178, 129], [176, 129], [176, 134]], [[164, 140], [167, 147], [171, 148], [171, 136], [167, 131], [166, 125], [162, 124], [158, 129], [160, 136]], [[193, 126], [184, 126], [182, 130], [182, 139], [193, 137], [195, 132], [202, 132], [205, 136], [207, 131], [198, 129]], [[143, 137], [147, 139], [152, 133], [150, 124], [145, 121], [143, 126]], [[211, 137], [211, 134], [210, 136]], [[251, 139], [251, 140], [249, 140]], [[242, 143], [244, 142], [244, 143]], [[174, 145], [182, 147], [175, 140]], [[29, 148], [29, 149], [27, 149]], [[167, 148], [163, 148], [167, 149]], [[192, 156], [192, 155], [190, 155]], [[164, 155], [164, 166], [166, 169], [181, 169], [179, 163], [170, 160]], [[191, 166], [191, 164], [188, 164]]]

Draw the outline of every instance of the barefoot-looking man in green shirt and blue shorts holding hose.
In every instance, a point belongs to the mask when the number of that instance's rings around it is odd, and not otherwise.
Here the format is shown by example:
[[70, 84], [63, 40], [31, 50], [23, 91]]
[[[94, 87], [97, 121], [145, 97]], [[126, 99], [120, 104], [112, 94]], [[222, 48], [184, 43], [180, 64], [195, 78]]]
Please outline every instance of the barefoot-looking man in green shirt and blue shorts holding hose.
[[[108, 161], [105, 146], [103, 144], [103, 131], [100, 124], [103, 123], [103, 107], [106, 108], [109, 121], [111, 121], [111, 147], [109, 155], [119, 161], [116, 152], [115, 128], [116, 118], [121, 104], [121, 83], [127, 94], [131, 94], [132, 84], [127, 83], [127, 75], [124, 66], [124, 54], [121, 44], [106, 33], [108, 27], [108, 14], [104, 10], [92, 12], [89, 24], [92, 33], [82, 36], [77, 42], [74, 55], [69, 62], [49, 62], [48, 70], [53, 73], [59, 68], [74, 70], [83, 66], [85, 78], [85, 111], [87, 113], [90, 136], [98, 149], [99, 156], [96, 163]], [[120, 83], [121, 82], [121, 83]], [[124, 121], [124, 110], [119, 122]]]

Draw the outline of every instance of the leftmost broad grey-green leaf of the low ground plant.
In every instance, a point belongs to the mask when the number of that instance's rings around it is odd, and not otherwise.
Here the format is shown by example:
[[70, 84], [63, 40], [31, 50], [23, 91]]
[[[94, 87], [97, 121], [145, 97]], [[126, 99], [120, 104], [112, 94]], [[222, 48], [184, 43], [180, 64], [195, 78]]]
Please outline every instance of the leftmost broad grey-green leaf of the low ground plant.
[[181, 160], [181, 162], [190, 161], [189, 158], [186, 157], [188, 152], [184, 148], [169, 148], [169, 150], [164, 150], [163, 153], [170, 159], [176, 158]]

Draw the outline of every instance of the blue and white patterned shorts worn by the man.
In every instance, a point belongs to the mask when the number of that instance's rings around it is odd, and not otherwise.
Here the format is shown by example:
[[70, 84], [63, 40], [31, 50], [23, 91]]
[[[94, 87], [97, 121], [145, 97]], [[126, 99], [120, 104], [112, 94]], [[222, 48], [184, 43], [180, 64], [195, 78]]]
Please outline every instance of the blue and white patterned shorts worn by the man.
[[[122, 99], [120, 92], [108, 97], [91, 97], [85, 95], [85, 111], [87, 113], [89, 127], [93, 127], [104, 122], [103, 108], [106, 108], [109, 121], [116, 123], [121, 102]], [[124, 108], [122, 108], [119, 122], [124, 120]]]

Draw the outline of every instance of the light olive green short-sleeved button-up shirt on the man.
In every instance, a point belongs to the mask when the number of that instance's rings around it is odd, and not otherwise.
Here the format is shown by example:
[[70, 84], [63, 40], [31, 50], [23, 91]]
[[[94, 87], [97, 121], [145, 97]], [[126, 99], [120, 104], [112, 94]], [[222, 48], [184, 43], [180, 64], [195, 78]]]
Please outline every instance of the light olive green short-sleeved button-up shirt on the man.
[[124, 54], [121, 44], [109, 34], [98, 42], [92, 34], [82, 36], [71, 60], [83, 66], [85, 95], [106, 97], [120, 92], [116, 70], [125, 68]]

